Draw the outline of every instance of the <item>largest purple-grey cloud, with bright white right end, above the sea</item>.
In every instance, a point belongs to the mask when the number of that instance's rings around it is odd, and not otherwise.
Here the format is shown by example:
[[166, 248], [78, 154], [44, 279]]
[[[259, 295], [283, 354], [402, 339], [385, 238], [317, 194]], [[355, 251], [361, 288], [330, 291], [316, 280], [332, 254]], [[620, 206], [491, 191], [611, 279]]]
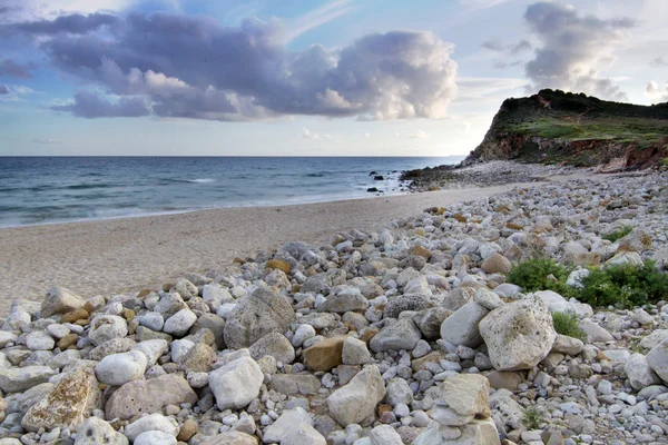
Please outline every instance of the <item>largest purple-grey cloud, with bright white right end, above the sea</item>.
[[[50, 63], [78, 83], [135, 106], [141, 99], [143, 109], [158, 117], [444, 118], [456, 96], [453, 44], [431, 32], [372, 33], [340, 49], [291, 51], [278, 19], [223, 27], [206, 16], [157, 12], [65, 16], [12, 27], [41, 36]], [[98, 99], [76, 98], [82, 106], [70, 111], [109, 109]]]

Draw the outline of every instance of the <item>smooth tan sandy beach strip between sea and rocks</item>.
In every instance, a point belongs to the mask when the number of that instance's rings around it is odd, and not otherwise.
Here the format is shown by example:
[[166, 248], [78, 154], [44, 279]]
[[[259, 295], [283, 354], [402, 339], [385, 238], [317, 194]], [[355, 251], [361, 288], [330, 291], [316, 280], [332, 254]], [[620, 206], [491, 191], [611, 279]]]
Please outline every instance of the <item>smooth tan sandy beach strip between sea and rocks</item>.
[[82, 297], [139, 290], [186, 273], [224, 268], [235, 257], [253, 256], [286, 241], [328, 243], [336, 231], [377, 230], [428, 207], [536, 185], [3, 228], [0, 313], [6, 314], [16, 298], [40, 301], [52, 286]]

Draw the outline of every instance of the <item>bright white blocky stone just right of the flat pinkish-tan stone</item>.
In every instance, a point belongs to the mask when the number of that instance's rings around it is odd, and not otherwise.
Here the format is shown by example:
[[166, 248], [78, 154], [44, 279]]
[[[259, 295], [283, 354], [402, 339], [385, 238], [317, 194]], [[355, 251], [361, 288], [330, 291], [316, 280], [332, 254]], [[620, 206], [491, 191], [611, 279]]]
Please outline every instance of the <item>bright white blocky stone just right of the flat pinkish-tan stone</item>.
[[218, 409], [240, 409], [259, 394], [264, 374], [250, 357], [239, 357], [209, 374]]

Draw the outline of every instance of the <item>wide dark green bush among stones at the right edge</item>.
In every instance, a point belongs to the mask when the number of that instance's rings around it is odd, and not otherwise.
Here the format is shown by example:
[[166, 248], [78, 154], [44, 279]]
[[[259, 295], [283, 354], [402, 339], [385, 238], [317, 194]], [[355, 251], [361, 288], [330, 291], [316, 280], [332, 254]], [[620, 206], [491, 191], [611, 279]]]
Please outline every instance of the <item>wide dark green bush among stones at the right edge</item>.
[[592, 306], [641, 306], [668, 296], [668, 276], [649, 260], [641, 266], [593, 269], [582, 279], [582, 285], [576, 297]]

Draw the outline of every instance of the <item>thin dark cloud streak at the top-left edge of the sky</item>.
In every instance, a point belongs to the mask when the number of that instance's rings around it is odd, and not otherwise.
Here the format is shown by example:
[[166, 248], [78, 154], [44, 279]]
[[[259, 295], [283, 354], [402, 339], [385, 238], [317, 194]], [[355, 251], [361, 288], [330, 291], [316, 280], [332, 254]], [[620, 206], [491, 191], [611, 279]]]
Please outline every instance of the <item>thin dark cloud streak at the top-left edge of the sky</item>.
[[88, 16], [69, 14], [60, 16], [55, 20], [24, 21], [0, 27], [0, 34], [12, 36], [17, 33], [27, 36], [56, 36], [62, 33], [86, 34], [102, 27], [120, 23], [120, 20], [107, 13], [92, 13]]

